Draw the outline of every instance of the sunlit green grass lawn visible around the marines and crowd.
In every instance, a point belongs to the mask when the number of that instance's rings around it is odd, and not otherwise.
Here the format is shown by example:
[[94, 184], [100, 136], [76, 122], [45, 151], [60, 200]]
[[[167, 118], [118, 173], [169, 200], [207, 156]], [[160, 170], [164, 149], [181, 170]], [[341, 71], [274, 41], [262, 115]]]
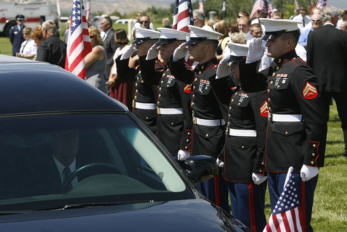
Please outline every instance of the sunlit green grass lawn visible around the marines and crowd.
[[[157, 25], [156, 25], [157, 26]], [[124, 28], [126, 24], [114, 25]], [[0, 37], [0, 53], [12, 55], [12, 45], [7, 37]], [[314, 231], [347, 231], [347, 159], [344, 152], [344, 136], [336, 105], [330, 107], [325, 167], [319, 172], [314, 194], [312, 226]], [[266, 193], [266, 218], [271, 215], [269, 193]]]

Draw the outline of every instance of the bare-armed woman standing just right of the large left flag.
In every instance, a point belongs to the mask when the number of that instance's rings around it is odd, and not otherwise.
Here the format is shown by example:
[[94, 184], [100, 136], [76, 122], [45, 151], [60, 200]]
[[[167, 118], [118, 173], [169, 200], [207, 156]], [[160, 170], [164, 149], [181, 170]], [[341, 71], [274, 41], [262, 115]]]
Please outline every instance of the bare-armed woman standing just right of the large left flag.
[[103, 48], [103, 39], [95, 26], [91, 26], [88, 30], [92, 51], [85, 56], [85, 69], [87, 70], [85, 80], [105, 93], [106, 53]]

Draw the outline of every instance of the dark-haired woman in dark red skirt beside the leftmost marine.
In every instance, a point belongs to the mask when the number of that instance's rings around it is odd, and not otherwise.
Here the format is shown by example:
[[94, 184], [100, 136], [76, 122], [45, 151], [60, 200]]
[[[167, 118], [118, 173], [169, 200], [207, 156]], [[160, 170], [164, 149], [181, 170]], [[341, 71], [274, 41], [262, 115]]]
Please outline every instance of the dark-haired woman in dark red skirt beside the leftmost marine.
[[[115, 42], [119, 44], [119, 48], [117, 48], [113, 60], [116, 60], [117, 57], [122, 55], [124, 51], [128, 49], [129, 39], [124, 29], [118, 29], [115, 31]], [[119, 100], [126, 105], [129, 110], [131, 110], [131, 102], [133, 100], [133, 82], [130, 80], [121, 80], [121, 78], [119, 78], [116, 62], [112, 66], [110, 77], [108, 78], [108, 84], [110, 85], [110, 97]]]

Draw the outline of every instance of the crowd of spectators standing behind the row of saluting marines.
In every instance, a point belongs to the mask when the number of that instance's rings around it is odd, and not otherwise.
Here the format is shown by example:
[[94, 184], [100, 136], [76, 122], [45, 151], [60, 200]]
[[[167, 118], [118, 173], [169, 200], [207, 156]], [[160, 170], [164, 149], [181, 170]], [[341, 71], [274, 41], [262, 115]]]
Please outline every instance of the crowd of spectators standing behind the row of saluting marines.
[[[232, 24], [221, 19], [218, 15], [214, 19], [207, 19], [201, 10], [193, 10], [194, 26], [205, 30], [221, 33], [217, 47], [217, 60], [222, 60], [228, 56], [230, 49], [226, 49], [229, 42], [237, 44], [249, 44], [253, 38], [264, 36], [264, 25], [262, 18], [283, 19], [283, 13], [274, 9], [272, 15], [267, 15], [262, 10], [257, 10], [255, 18], [251, 19], [249, 13], [240, 10], [237, 18]], [[320, 30], [324, 26], [324, 19], [321, 17], [321, 9], [314, 7], [311, 12], [302, 6], [298, 15], [291, 17], [294, 21], [300, 21], [298, 28], [301, 35], [296, 46], [296, 53], [302, 60], [307, 60], [307, 42], [310, 33]], [[45, 61], [65, 67], [65, 57], [67, 51], [67, 38], [69, 33], [69, 23], [67, 28], [58, 32], [56, 21], [48, 20], [36, 28], [28, 28], [24, 24], [24, 15], [16, 16], [17, 25], [10, 30], [10, 42], [12, 43], [12, 55], [27, 59]], [[163, 28], [171, 28], [171, 20], [167, 17], [162, 19]], [[341, 10], [334, 25], [339, 30], [347, 30], [347, 10]], [[95, 87], [101, 89], [110, 97], [124, 102], [129, 109], [132, 108], [132, 98], [134, 95], [135, 81], [121, 80], [117, 74], [115, 60], [128, 49], [128, 43], [135, 39], [136, 28], [155, 30], [148, 15], [137, 14], [137, 21], [131, 31], [132, 38], [126, 34], [126, 30], [114, 30], [112, 19], [103, 17], [100, 19], [99, 31], [96, 27], [90, 27], [90, 39], [92, 42], [92, 52], [85, 57], [87, 69], [86, 80]], [[60, 39], [60, 36], [64, 39]], [[135, 48], [134, 48], [135, 49]], [[139, 57], [130, 57], [129, 66], [135, 66]], [[259, 71], [266, 69], [273, 58], [266, 55], [262, 57]], [[105, 64], [104, 64], [105, 63]], [[347, 136], [347, 135], [346, 135]], [[347, 141], [346, 141], [347, 149]]]

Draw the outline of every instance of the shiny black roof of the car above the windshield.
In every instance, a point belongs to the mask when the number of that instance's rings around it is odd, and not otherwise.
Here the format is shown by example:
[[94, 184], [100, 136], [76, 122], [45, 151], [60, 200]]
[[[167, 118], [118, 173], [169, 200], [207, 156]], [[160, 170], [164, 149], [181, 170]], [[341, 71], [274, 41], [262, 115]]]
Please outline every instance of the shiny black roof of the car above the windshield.
[[0, 116], [62, 111], [126, 111], [76, 75], [46, 62], [0, 55]]

